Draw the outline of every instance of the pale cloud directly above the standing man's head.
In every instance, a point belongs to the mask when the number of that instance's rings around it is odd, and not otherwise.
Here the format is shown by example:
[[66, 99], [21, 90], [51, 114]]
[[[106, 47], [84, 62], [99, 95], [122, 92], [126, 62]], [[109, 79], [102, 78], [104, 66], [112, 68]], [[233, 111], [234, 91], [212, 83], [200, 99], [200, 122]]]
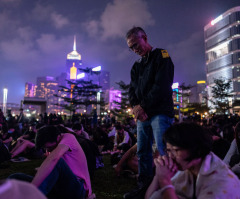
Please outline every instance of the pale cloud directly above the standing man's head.
[[151, 26], [155, 21], [143, 0], [114, 0], [108, 3], [99, 20], [89, 20], [84, 26], [90, 36], [123, 37], [133, 26]]

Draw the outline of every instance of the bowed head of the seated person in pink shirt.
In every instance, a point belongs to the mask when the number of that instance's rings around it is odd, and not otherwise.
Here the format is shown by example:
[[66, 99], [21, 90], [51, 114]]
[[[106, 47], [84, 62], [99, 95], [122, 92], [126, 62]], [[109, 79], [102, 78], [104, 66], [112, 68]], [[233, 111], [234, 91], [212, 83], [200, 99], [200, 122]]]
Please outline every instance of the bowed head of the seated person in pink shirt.
[[60, 131], [56, 126], [43, 126], [36, 135], [35, 145], [37, 149], [45, 148], [51, 152], [54, 150], [60, 141]]

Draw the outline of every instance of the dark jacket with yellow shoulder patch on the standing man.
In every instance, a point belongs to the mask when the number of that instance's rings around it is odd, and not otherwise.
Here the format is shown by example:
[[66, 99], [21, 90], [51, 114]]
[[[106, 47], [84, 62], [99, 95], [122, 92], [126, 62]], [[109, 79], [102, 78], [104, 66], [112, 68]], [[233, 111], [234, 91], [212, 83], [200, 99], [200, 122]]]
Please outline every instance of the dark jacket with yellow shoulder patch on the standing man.
[[174, 116], [172, 84], [174, 65], [164, 49], [154, 49], [136, 61], [131, 70], [129, 101], [140, 104], [149, 117]]

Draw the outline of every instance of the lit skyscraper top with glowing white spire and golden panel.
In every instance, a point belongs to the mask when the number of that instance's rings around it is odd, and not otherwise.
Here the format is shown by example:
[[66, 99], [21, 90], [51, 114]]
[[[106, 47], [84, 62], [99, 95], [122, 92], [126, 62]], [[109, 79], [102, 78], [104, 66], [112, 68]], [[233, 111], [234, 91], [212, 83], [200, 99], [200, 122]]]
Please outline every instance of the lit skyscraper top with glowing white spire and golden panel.
[[76, 69], [80, 68], [81, 65], [82, 65], [82, 57], [77, 52], [76, 36], [74, 36], [73, 51], [67, 54], [67, 61], [66, 61], [67, 79], [70, 79], [70, 77], [75, 77], [76, 76], [75, 73], [77, 72]]

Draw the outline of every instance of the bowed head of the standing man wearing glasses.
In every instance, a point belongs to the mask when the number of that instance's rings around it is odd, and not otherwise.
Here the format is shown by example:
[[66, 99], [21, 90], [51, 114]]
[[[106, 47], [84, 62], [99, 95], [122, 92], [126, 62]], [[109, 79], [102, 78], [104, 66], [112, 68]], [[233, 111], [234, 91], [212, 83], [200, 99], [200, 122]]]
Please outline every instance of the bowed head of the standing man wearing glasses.
[[128, 47], [141, 57], [152, 50], [147, 40], [147, 34], [141, 27], [131, 28], [126, 34], [126, 40]]

